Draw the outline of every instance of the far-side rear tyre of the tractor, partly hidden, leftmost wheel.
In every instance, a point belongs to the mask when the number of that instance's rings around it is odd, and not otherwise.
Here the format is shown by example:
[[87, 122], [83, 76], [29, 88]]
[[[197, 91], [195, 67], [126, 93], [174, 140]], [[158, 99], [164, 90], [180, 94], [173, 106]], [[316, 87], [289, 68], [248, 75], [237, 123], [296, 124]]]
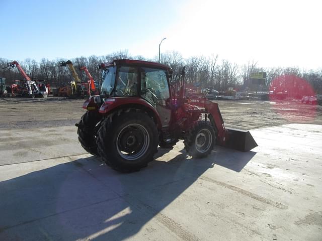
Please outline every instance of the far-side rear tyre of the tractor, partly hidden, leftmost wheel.
[[83, 114], [81, 121], [76, 124], [78, 141], [82, 147], [94, 156], [98, 156], [96, 144], [96, 125], [101, 121], [99, 113], [87, 111]]

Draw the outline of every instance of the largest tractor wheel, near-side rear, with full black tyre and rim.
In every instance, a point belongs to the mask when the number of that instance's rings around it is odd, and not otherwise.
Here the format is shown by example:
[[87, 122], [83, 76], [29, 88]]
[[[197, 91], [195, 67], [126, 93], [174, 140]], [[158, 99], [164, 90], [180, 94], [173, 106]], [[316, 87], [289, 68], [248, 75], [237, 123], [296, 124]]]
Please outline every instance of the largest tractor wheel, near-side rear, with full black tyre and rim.
[[102, 160], [121, 172], [138, 171], [153, 160], [158, 132], [153, 119], [143, 112], [121, 112], [105, 118], [97, 138]]

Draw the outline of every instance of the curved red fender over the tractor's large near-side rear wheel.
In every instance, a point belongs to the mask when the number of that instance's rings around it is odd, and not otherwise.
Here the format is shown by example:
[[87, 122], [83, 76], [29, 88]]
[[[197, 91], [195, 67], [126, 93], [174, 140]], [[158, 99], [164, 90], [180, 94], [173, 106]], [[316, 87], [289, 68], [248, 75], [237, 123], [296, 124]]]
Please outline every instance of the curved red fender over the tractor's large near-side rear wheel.
[[126, 108], [137, 108], [143, 109], [148, 112], [152, 117], [154, 122], [157, 125], [157, 128], [162, 128], [161, 118], [156, 111], [156, 109], [145, 99], [139, 97], [110, 97], [105, 100], [105, 102], [101, 105], [99, 112], [103, 115], [109, 115], [110, 113]]

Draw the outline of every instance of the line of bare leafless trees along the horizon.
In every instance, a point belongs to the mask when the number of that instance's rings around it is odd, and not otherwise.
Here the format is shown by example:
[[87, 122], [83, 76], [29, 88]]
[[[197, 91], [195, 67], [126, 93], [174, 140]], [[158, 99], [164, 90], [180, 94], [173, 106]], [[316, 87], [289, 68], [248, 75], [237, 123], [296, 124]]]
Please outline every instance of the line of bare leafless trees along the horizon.
[[[112, 61], [113, 59], [138, 59], [157, 62], [157, 57], [146, 59], [143, 56], [131, 56], [127, 50], [114, 52], [105, 56], [77, 57], [70, 59], [75, 67], [78, 76], [82, 81], [87, 81], [85, 72], [79, 70], [86, 66], [93, 78], [99, 81], [102, 76], [102, 70], [98, 68], [101, 63]], [[17, 60], [25, 72], [35, 79], [46, 79], [51, 86], [61, 86], [72, 80], [72, 75], [68, 68], [60, 66], [61, 61], [66, 59], [49, 60], [41, 59], [40, 62], [34, 59]], [[294, 75], [307, 81], [315, 91], [322, 93], [322, 69], [301, 70], [294, 67], [274, 67], [264, 68], [258, 66], [254, 61], [249, 61], [244, 65], [237, 65], [228, 60], [218, 60], [218, 55], [193, 56], [183, 58], [177, 51], [166, 52], [160, 55], [160, 63], [169, 65], [174, 72], [180, 72], [183, 66], [186, 66], [186, 83], [196, 87], [214, 87], [218, 91], [224, 91], [228, 87], [238, 90], [247, 89], [252, 73], [266, 72], [266, 80], [263, 85], [252, 86], [251, 90], [267, 91], [271, 82], [283, 75]], [[7, 59], [0, 58], [0, 77], [7, 79], [7, 84], [11, 84], [16, 79], [22, 79], [17, 68], [8, 69]], [[254, 89], [256, 88], [256, 89]]]

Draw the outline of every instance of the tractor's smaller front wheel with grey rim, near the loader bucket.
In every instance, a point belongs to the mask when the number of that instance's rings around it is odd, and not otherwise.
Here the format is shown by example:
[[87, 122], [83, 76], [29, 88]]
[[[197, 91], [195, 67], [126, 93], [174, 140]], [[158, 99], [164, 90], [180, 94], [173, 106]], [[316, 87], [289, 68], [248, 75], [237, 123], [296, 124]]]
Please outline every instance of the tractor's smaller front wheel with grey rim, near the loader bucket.
[[214, 128], [209, 122], [198, 121], [184, 140], [185, 149], [193, 158], [208, 156], [216, 141]]

